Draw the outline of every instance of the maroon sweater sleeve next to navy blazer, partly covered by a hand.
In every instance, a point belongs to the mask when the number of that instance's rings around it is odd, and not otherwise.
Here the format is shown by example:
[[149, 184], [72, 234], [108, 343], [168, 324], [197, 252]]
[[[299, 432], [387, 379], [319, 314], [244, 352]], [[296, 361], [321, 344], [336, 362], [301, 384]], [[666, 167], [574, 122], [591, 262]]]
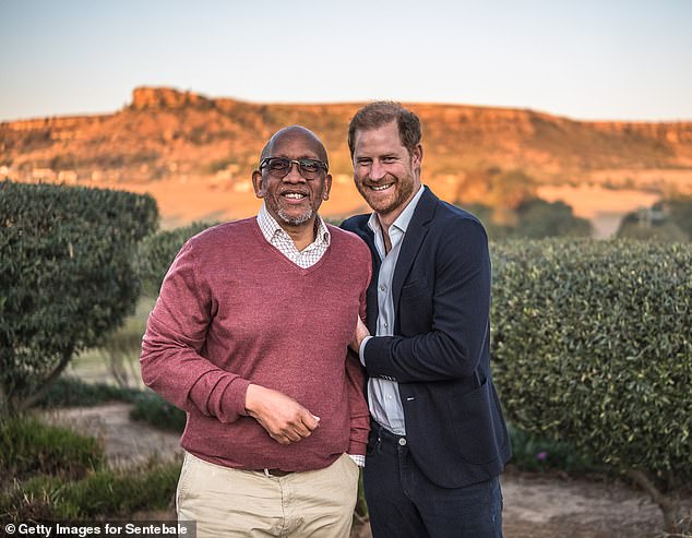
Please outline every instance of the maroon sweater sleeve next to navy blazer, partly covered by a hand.
[[[366, 247], [365, 243], [363, 247]], [[360, 294], [360, 311], [358, 313], [360, 319], [365, 321], [368, 285], [372, 277], [372, 263], [368, 250], [366, 250], [363, 258], [368, 272]], [[360, 363], [360, 359], [349, 349], [346, 357], [346, 379], [348, 383], [348, 404], [350, 409], [350, 443], [348, 453], [353, 455], [365, 455], [368, 444], [368, 433], [370, 432], [370, 411], [368, 410], [368, 403], [365, 397], [366, 379], [363, 372], [365, 369]]]

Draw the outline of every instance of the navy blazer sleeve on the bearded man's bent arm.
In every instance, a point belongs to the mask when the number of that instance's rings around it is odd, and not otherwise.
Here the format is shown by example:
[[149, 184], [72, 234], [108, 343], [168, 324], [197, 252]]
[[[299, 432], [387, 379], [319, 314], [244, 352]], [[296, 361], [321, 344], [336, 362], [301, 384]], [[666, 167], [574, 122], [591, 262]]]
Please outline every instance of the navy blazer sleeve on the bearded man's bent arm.
[[368, 374], [397, 381], [442, 381], [469, 378], [489, 342], [490, 255], [480, 223], [457, 219], [430, 230], [434, 241], [432, 286], [421, 301], [432, 302], [432, 321], [410, 334], [417, 312], [397, 310], [403, 336], [375, 336], [365, 347]]

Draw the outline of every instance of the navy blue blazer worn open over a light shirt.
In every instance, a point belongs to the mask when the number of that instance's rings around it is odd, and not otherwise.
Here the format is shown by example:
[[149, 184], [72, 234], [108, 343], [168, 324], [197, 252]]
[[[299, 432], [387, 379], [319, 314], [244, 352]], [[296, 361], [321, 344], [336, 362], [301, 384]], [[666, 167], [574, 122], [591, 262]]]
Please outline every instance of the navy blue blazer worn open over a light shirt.
[[[357, 215], [342, 227], [372, 252], [367, 325], [375, 334], [380, 256], [369, 217]], [[426, 187], [392, 294], [394, 336], [368, 342], [366, 369], [398, 382], [411, 456], [445, 488], [498, 476], [511, 447], [490, 372], [490, 255], [480, 222]]]

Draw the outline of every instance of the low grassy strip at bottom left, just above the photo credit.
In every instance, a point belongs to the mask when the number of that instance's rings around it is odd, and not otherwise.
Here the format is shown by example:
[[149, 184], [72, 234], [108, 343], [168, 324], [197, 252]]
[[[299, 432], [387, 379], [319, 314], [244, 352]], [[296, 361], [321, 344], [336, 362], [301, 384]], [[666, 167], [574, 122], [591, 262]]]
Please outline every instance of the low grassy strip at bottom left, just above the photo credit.
[[85, 521], [167, 510], [179, 475], [179, 463], [152, 461], [138, 469], [102, 469], [77, 481], [37, 476], [0, 495], [0, 517]]

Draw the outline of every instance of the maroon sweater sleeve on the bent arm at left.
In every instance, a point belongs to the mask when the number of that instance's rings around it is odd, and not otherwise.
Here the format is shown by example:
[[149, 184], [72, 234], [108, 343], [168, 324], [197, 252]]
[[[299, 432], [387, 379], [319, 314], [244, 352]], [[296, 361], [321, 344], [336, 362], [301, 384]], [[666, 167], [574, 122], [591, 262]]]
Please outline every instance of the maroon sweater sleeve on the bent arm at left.
[[142, 339], [144, 383], [186, 411], [232, 422], [244, 415], [250, 382], [201, 355], [213, 320], [213, 294], [198, 274], [193, 248], [178, 253]]

